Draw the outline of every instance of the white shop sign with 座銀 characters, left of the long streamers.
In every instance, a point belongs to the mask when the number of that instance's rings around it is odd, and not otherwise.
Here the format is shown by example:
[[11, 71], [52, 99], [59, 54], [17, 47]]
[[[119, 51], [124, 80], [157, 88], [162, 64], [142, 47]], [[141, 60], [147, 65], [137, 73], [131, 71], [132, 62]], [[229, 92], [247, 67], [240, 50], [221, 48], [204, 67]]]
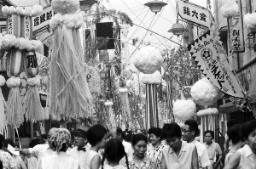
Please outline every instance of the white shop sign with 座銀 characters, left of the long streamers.
[[49, 25], [49, 20], [55, 15], [51, 7], [45, 8], [44, 13], [37, 17], [32, 17], [32, 31], [38, 31], [46, 25]]

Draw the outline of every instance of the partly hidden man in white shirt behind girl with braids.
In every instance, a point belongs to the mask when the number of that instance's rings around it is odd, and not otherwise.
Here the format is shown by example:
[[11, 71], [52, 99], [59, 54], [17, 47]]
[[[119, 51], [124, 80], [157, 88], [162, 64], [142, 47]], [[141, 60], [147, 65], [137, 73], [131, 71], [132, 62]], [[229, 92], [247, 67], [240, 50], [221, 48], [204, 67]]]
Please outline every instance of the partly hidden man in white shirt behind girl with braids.
[[130, 155], [133, 154], [133, 149], [131, 147], [131, 144], [128, 142], [125, 142], [124, 138], [123, 138], [123, 131], [121, 128], [119, 127], [114, 127], [112, 129], [109, 130], [109, 138], [117, 138], [119, 139], [122, 144], [125, 147], [125, 153], [127, 154], [127, 156], [129, 157]]

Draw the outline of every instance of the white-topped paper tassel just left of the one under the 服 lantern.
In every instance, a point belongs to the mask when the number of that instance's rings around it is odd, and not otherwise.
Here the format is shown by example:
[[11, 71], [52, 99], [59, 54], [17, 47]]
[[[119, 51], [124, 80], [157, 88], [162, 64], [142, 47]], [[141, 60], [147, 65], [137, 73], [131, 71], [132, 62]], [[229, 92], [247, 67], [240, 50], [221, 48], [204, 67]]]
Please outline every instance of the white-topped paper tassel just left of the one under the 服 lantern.
[[20, 78], [11, 76], [7, 82], [7, 86], [10, 87], [7, 106], [9, 107], [8, 124], [10, 126], [20, 127], [20, 124], [24, 121], [23, 114], [21, 113], [22, 105], [20, 102]]

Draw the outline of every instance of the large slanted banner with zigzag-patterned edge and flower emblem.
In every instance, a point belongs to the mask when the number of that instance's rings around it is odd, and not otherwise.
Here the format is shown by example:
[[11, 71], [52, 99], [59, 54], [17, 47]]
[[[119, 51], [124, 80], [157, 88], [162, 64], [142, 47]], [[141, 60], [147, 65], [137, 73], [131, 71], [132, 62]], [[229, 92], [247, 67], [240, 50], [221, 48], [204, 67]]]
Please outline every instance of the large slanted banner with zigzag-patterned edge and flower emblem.
[[218, 37], [214, 38], [212, 32], [207, 31], [189, 44], [188, 49], [197, 66], [213, 85], [230, 96], [245, 98]]

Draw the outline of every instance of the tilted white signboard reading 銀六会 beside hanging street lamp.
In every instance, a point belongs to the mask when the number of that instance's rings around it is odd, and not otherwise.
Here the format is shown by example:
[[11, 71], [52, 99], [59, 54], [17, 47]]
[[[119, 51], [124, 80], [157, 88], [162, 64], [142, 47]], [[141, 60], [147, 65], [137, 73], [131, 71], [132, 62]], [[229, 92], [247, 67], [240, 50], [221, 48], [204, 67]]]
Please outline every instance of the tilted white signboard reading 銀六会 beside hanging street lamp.
[[177, 6], [177, 13], [183, 20], [189, 20], [195, 24], [210, 27], [212, 14], [206, 8], [183, 1], [178, 1]]

